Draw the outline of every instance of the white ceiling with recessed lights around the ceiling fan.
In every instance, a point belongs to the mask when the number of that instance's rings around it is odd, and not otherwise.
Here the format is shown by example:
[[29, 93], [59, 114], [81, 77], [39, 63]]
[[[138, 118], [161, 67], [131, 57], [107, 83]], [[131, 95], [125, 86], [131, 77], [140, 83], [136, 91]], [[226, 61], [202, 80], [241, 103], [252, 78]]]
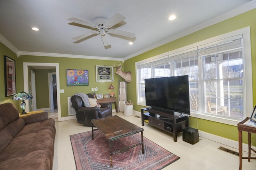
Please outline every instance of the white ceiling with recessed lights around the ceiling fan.
[[[255, 0], [1, 0], [0, 41], [19, 55], [124, 60], [254, 8]], [[93, 23], [116, 13], [126, 19], [114, 27], [135, 33], [133, 45], [110, 36], [105, 49], [100, 35], [73, 43], [91, 29], [68, 18]]]

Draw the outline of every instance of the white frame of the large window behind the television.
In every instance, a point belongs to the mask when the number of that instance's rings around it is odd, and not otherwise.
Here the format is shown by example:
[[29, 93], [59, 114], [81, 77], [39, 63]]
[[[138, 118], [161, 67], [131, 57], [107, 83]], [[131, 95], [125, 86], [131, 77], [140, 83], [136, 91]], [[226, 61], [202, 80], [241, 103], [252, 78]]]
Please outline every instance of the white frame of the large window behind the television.
[[[137, 91], [137, 104], [141, 105], [141, 106], [146, 106], [146, 103], [142, 103], [142, 102], [138, 102], [139, 101], [139, 87], [138, 85], [138, 70], [137, 70], [137, 66], [141, 65], [141, 64], [146, 64], [146, 63], [150, 63], [153, 61], [158, 61], [161, 59], [165, 59], [168, 57], [172, 57], [175, 55], [179, 55], [182, 53], [186, 53], [189, 51], [194, 51], [197, 50], [199, 46], [203, 46], [203, 45], [208, 45], [210, 46], [211, 43], [215, 42], [215, 41], [220, 41], [222, 39], [227, 39], [229, 37], [233, 37], [236, 35], [243, 35], [243, 47], [244, 47], [244, 58], [243, 58], [243, 69], [244, 69], [244, 84], [243, 84], [243, 90], [244, 90], [244, 112], [245, 112], [245, 116], [246, 117], [250, 117], [251, 113], [252, 113], [252, 109], [253, 109], [253, 95], [252, 95], [252, 59], [251, 59], [251, 41], [250, 41], [250, 27], [245, 27], [242, 29], [238, 29], [229, 33], [225, 33], [216, 37], [212, 37], [210, 39], [206, 39], [191, 45], [187, 45], [185, 47], [181, 47], [179, 49], [175, 49], [173, 51], [169, 51], [154, 57], [150, 57], [148, 59], [142, 60], [142, 61], [138, 61], [135, 63], [135, 69], [136, 69], [136, 91]], [[200, 119], [206, 119], [206, 120], [210, 120], [210, 121], [215, 121], [215, 122], [219, 122], [219, 123], [225, 123], [228, 125], [234, 125], [236, 126], [237, 123], [240, 121], [238, 119], [232, 119], [227, 118], [227, 117], [218, 117], [217, 115], [208, 115], [208, 114], [204, 114], [204, 113], [190, 113], [190, 116], [192, 117], [197, 117]]]

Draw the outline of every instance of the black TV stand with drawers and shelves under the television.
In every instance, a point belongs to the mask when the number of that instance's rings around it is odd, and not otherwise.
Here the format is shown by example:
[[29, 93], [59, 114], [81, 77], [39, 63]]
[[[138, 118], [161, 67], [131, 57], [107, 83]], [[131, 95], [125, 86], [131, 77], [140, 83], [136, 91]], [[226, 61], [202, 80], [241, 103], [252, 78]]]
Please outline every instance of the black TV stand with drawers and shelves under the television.
[[[144, 111], [147, 111], [144, 113]], [[173, 134], [173, 141], [177, 142], [177, 134], [182, 132], [184, 128], [189, 126], [188, 115], [186, 114], [170, 114], [162, 111], [146, 107], [141, 109], [141, 125], [144, 122], [158, 127], [168, 133]]]

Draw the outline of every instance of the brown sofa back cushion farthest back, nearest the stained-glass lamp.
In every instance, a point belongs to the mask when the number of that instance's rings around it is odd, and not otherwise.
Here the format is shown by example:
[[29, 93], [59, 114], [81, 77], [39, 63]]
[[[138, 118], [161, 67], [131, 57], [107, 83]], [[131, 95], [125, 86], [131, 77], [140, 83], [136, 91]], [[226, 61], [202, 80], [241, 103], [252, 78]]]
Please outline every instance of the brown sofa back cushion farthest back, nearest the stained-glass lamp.
[[19, 112], [13, 104], [5, 103], [0, 105], [0, 118], [4, 123], [4, 126], [13, 122], [18, 117]]

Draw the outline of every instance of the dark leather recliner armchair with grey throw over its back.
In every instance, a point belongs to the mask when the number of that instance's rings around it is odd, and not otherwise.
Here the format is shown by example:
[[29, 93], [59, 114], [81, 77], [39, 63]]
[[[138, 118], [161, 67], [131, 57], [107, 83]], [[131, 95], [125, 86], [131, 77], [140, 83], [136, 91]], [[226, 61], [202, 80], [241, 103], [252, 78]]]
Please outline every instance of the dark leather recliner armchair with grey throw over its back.
[[[94, 98], [90, 93], [87, 95], [89, 98]], [[92, 126], [92, 119], [112, 116], [112, 103], [100, 103], [101, 107], [85, 107], [80, 96], [73, 95], [70, 100], [72, 102], [72, 107], [74, 107], [76, 111], [77, 123], [85, 126]]]

